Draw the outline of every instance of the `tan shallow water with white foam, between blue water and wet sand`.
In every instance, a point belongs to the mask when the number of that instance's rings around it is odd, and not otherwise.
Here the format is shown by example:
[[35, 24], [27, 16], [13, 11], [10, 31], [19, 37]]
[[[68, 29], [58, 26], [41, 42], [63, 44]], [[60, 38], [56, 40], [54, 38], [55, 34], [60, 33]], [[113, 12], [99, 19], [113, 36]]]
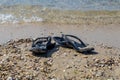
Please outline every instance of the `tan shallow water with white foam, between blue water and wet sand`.
[[[1, 24], [6, 23], [56, 23], [56, 24], [120, 24], [120, 11], [109, 10], [59, 10], [44, 8], [41, 6], [13, 6], [1, 11]], [[18, 9], [16, 9], [18, 8]], [[11, 10], [11, 11], [9, 11]], [[34, 14], [34, 15], [33, 15]], [[5, 18], [5, 19], [4, 19]], [[7, 19], [7, 20], [6, 20]], [[4, 21], [5, 20], [5, 21]], [[13, 21], [13, 22], [12, 22]]]

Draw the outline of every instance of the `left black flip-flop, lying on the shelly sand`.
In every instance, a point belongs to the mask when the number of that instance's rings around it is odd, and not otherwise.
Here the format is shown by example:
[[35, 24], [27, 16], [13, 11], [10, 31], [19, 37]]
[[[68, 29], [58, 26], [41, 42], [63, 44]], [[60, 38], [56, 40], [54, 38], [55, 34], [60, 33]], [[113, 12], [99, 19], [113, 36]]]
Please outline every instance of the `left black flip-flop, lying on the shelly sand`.
[[55, 43], [51, 43], [51, 37], [40, 37], [33, 41], [30, 51], [33, 53], [47, 53], [55, 47]]

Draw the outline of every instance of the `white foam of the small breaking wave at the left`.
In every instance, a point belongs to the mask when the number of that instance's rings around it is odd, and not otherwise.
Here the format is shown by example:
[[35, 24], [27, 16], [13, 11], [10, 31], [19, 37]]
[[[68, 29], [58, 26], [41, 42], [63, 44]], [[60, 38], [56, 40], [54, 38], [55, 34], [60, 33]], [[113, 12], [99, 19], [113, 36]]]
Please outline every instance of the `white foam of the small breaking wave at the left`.
[[20, 22], [42, 22], [43, 19], [41, 17], [37, 16], [32, 16], [32, 17], [16, 17], [12, 14], [0, 14], [0, 24], [5, 24], [5, 23], [20, 23]]

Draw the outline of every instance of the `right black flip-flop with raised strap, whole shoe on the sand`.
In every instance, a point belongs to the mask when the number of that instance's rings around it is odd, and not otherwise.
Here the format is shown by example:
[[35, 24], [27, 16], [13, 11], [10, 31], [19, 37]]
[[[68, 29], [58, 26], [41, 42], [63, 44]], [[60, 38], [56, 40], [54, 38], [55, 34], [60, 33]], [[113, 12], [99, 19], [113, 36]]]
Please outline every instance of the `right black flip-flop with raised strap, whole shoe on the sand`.
[[[74, 40], [72, 40], [73, 38]], [[53, 37], [53, 39], [62, 47], [72, 48], [78, 52], [90, 52], [93, 47], [88, 47], [81, 39], [73, 35], [64, 35], [62, 37]], [[77, 41], [76, 41], [77, 40]]]

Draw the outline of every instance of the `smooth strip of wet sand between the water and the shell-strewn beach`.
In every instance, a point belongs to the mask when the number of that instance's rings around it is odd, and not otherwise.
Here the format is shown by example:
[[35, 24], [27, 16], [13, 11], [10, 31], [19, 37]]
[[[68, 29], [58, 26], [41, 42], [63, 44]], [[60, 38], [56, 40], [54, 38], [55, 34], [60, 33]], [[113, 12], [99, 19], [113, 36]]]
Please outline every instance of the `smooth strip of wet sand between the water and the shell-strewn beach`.
[[72, 34], [92, 45], [107, 45], [120, 48], [120, 25], [70, 25], [70, 24], [16, 24], [0, 25], [0, 43], [11, 39], [37, 38]]

